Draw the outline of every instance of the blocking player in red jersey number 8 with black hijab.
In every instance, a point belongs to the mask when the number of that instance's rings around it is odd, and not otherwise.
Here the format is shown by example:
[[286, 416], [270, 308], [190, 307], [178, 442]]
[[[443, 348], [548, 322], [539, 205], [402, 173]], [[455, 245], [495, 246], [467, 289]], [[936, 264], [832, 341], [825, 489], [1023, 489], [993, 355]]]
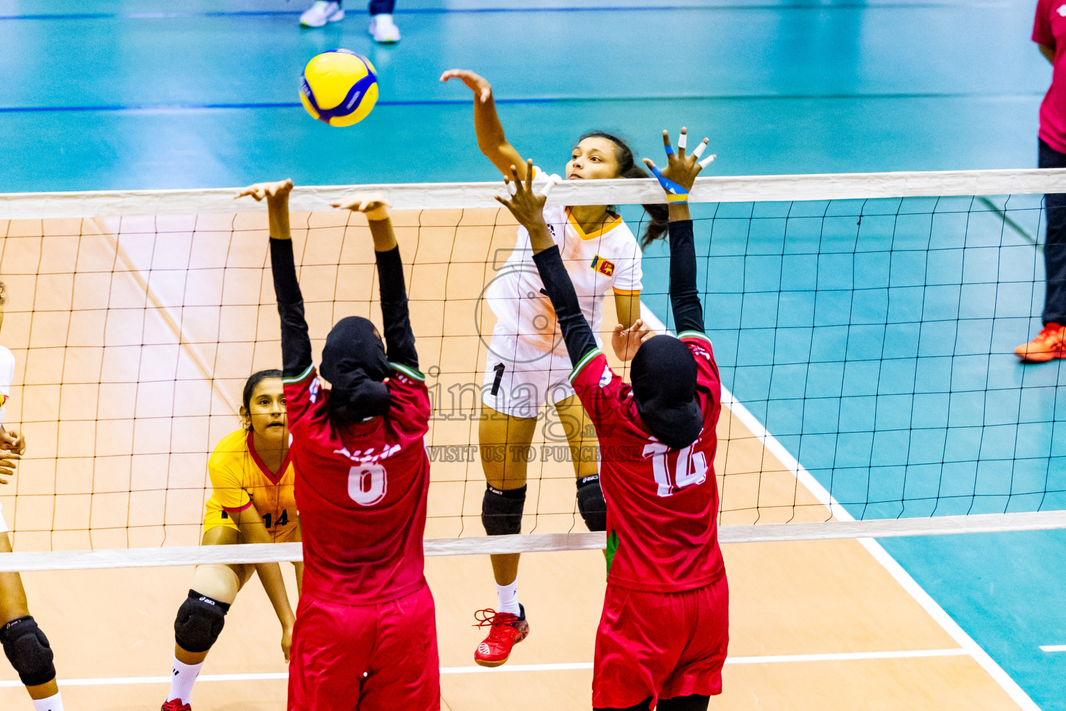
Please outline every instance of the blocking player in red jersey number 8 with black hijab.
[[304, 587], [288, 708], [437, 711], [437, 630], [422, 558], [430, 394], [388, 206], [369, 196], [334, 206], [365, 212], [370, 223], [385, 343], [367, 319], [338, 321], [322, 351], [330, 390], [311, 361], [289, 235], [291, 190], [285, 180], [241, 193], [269, 208], [286, 409], [301, 472]]

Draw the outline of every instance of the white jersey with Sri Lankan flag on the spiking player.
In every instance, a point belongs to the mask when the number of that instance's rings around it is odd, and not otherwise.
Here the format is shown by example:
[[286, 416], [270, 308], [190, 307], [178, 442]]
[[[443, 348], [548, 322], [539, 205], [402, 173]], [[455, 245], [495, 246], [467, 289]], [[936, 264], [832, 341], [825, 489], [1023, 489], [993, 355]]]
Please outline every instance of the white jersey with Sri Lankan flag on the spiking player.
[[[533, 187], [538, 193], [563, 179], [533, 168]], [[570, 217], [569, 208], [545, 207], [551, 239], [559, 245], [563, 264], [578, 293], [581, 312], [600, 342], [603, 300], [608, 293], [634, 294], [641, 291], [641, 247], [618, 215], [608, 215], [601, 229], [586, 233]], [[566, 353], [555, 309], [544, 291], [544, 282], [533, 262], [530, 233], [519, 226], [515, 251], [485, 291], [498, 324], [537, 351]]]

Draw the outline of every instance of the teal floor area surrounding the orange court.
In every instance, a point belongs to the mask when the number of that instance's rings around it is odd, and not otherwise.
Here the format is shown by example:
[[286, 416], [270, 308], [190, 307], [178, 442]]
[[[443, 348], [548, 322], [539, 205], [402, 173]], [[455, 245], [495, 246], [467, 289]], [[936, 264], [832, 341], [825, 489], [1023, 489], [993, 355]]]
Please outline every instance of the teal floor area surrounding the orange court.
[[[1031, 167], [1051, 77], [1031, 0], [399, 0], [395, 47], [356, 3], [302, 31], [295, 1], [0, 0], [0, 192], [496, 179], [469, 92], [437, 82], [451, 67], [492, 81], [508, 139], [555, 172], [587, 129], [658, 159], [681, 124], [711, 138], [717, 175]], [[349, 129], [297, 98], [336, 47], [381, 75]], [[1039, 327], [1038, 198], [696, 217], [725, 384], [856, 517], [1066, 506], [1066, 373], [1011, 355]], [[666, 275], [655, 245], [660, 316]], [[883, 543], [1066, 711], [1066, 653], [1039, 649], [1066, 644], [1066, 533]]]

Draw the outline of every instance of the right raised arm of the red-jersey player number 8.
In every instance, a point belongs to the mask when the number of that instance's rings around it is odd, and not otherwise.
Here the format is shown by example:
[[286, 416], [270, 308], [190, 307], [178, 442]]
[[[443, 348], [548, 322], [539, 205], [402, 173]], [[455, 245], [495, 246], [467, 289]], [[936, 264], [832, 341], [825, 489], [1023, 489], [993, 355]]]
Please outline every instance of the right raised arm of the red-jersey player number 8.
[[377, 261], [387, 355], [393, 363], [418, 370], [418, 352], [415, 350], [415, 333], [410, 328], [407, 289], [403, 279], [403, 260], [392, 231], [389, 204], [379, 194], [355, 194], [334, 204], [334, 207], [367, 215]]

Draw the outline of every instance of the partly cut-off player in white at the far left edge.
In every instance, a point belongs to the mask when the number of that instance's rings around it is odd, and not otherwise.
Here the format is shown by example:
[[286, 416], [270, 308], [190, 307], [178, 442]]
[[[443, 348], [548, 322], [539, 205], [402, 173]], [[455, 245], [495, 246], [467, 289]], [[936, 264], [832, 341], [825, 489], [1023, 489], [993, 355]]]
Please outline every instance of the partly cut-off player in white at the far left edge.
[[[0, 327], [3, 326], [4, 287], [0, 284]], [[26, 439], [14, 430], [4, 429], [4, 414], [15, 377], [15, 356], [0, 345], [0, 484], [15, 473], [26, 451]], [[0, 512], [0, 553], [11, 552], [7, 523]], [[0, 572], [0, 644], [11, 665], [26, 684], [35, 711], [63, 711], [63, 699], [55, 685], [55, 666], [48, 637], [30, 615], [22, 578], [17, 572]]]

